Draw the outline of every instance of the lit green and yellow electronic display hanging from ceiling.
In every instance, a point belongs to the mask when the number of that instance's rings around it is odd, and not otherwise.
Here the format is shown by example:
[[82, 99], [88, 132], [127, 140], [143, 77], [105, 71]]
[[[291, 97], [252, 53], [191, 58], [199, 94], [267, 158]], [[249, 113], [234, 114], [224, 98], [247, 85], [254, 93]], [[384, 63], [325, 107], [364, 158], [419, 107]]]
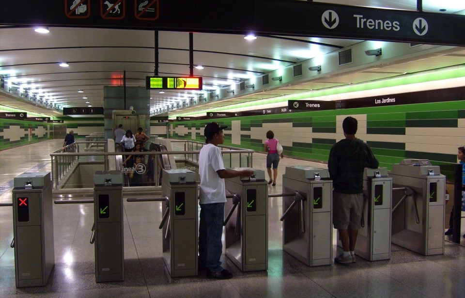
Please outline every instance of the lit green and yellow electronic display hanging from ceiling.
[[146, 77], [146, 89], [202, 90], [201, 77]]

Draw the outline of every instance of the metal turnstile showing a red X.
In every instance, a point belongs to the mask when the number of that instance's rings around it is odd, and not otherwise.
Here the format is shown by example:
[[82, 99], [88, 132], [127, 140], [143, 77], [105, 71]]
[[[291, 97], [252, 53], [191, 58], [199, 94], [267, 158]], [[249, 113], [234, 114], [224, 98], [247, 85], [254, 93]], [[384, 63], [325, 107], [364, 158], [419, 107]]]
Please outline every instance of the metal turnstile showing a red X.
[[46, 285], [55, 265], [50, 173], [22, 173], [12, 192], [16, 287]]

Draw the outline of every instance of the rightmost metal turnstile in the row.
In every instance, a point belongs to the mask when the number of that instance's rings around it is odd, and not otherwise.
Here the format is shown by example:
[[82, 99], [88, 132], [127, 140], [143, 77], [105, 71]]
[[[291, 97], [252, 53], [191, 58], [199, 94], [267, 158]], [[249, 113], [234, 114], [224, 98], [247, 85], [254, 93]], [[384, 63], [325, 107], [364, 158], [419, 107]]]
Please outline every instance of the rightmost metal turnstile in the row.
[[[444, 253], [446, 176], [427, 159], [405, 159], [392, 172], [394, 244], [423, 255]], [[402, 196], [403, 195], [403, 196]]]

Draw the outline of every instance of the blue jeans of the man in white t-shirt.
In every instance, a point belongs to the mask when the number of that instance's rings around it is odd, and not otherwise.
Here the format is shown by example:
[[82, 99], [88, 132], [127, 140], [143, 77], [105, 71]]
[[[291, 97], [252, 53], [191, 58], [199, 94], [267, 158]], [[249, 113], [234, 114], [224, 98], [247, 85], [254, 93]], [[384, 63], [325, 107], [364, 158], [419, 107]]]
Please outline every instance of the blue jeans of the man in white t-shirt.
[[224, 203], [200, 204], [199, 267], [211, 272], [223, 270], [219, 258], [223, 253]]

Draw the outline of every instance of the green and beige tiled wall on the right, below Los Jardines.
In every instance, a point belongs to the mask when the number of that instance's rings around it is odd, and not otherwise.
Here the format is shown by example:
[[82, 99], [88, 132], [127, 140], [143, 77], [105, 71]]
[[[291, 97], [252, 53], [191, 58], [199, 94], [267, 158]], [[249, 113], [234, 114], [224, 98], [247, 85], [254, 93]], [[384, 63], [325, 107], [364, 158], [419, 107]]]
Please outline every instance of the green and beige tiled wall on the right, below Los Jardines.
[[[425, 158], [434, 164], [455, 163], [456, 146], [465, 144], [463, 101], [257, 115], [216, 121], [228, 125], [225, 145], [263, 152], [265, 133], [271, 129], [283, 145], [285, 155], [326, 162], [332, 144], [343, 138], [342, 128], [338, 125], [341, 126], [343, 118], [349, 115], [359, 122], [357, 136], [371, 146], [380, 166], [389, 170], [393, 163], [404, 158]], [[240, 122], [240, 131], [232, 131], [233, 121]], [[191, 140], [191, 130], [195, 130], [196, 140], [204, 141], [203, 127], [208, 122], [172, 123], [171, 136]], [[189, 133], [177, 133], [181, 128], [185, 130], [187, 125]], [[239, 143], [232, 142], [234, 135], [240, 136]], [[444, 138], [442, 143], [441, 138]]]

